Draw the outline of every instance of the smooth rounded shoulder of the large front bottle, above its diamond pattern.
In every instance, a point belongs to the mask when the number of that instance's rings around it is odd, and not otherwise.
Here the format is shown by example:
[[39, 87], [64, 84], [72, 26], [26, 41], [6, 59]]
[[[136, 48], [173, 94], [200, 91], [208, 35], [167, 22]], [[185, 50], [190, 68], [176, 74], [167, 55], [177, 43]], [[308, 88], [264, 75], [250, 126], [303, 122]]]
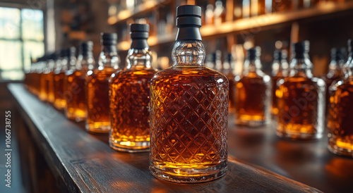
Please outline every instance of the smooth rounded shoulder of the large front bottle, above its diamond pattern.
[[228, 84], [228, 79], [225, 75], [205, 66], [172, 66], [156, 73], [151, 81], [170, 82], [170, 84], [189, 84], [191, 82]]

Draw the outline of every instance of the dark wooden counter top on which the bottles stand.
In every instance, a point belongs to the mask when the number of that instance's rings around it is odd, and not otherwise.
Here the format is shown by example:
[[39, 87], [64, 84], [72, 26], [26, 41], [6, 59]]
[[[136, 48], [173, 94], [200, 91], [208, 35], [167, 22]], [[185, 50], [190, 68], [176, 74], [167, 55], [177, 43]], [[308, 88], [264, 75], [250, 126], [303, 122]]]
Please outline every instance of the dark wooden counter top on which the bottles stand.
[[334, 192], [353, 188], [353, 160], [328, 153], [327, 139], [287, 142], [275, 137], [270, 127], [229, 127], [229, 168], [219, 180], [192, 185], [157, 180], [149, 173], [148, 153], [114, 151], [107, 135], [88, 134], [83, 124], [67, 120], [22, 84], [10, 84], [8, 89], [52, 172], [70, 192]]

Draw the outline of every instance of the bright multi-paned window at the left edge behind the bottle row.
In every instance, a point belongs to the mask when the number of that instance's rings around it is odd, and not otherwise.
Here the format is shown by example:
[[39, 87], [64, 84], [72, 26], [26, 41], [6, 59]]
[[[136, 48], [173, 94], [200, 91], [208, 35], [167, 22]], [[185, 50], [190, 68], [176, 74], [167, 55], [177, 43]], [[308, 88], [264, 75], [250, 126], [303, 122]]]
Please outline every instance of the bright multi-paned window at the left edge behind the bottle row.
[[22, 80], [30, 58], [43, 55], [43, 11], [0, 7], [0, 80]]

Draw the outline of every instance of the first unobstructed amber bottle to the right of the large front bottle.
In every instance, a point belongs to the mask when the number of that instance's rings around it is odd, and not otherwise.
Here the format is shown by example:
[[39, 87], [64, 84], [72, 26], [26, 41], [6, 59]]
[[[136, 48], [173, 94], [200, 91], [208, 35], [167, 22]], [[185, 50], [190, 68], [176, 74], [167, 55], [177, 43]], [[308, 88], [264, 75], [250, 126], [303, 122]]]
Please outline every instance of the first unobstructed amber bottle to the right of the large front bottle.
[[235, 77], [236, 123], [257, 127], [270, 121], [271, 78], [261, 70], [261, 48], [247, 51], [244, 70]]

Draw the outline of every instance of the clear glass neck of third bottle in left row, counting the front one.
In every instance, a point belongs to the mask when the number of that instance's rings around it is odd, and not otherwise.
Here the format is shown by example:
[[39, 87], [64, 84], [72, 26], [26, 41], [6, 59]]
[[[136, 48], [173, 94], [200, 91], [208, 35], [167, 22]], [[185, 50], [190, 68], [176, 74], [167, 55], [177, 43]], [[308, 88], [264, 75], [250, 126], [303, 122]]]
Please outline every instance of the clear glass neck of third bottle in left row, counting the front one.
[[112, 67], [114, 69], [117, 69], [119, 68], [119, 62], [120, 58], [116, 51], [115, 44], [103, 45], [98, 61], [98, 65], [100, 66], [100, 68]]

